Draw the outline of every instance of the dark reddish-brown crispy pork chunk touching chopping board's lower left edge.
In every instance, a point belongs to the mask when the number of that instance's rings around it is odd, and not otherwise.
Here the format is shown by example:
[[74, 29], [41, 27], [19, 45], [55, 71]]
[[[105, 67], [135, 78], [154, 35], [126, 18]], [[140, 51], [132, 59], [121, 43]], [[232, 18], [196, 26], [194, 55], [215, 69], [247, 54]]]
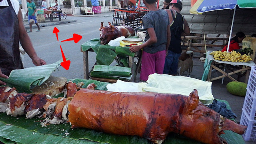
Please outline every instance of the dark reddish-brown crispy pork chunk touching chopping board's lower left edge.
[[44, 104], [46, 104], [47, 98], [45, 94], [34, 94], [32, 98], [27, 102], [25, 112], [28, 112], [33, 109], [43, 108]]

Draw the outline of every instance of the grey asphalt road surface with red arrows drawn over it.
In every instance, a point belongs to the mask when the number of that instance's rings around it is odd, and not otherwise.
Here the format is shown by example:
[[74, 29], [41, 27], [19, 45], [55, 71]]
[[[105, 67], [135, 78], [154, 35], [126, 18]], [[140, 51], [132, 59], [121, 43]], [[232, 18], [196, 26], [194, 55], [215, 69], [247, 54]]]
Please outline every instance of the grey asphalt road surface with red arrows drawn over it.
[[[60, 46], [64, 52], [66, 58], [71, 61], [69, 70], [65, 70], [60, 66], [56, 72], [52, 72], [53, 76], [66, 77], [66, 78], [84, 78], [83, 74], [83, 54], [80, 52], [80, 45], [92, 38], [100, 37], [100, 22], [104, 21], [104, 26], [108, 22], [112, 22], [112, 17], [74, 17], [68, 16], [69, 20], [77, 20], [77, 22], [72, 22], [68, 24], [60, 24], [56, 26], [46, 26], [41, 28], [41, 32], [28, 33], [33, 46], [38, 54], [38, 56], [46, 61], [47, 64], [52, 64], [62, 59], [62, 54]], [[58, 33], [57, 41], [56, 35], [52, 33], [54, 27], [58, 28], [60, 32]], [[68, 38], [72, 38], [73, 34], [79, 34], [82, 39], [78, 43], [74, 41], [61, 42]], [[92, 68], [93, 64], [96, 62], [96, 53], [89, 52], [89, 68]], [[24, 55], [24, 67], [32, 67], [34, 64], [28, 56]]]

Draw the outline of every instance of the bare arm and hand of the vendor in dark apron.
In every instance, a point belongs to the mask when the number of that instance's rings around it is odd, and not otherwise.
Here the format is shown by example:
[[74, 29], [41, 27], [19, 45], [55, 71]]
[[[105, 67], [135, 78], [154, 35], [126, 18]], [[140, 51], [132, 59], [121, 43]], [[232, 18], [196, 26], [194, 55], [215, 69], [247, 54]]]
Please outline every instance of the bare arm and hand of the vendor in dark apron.
[[19, 21], [19, 40], [22, 48], [24, 48], [26, 53], [28, 53], [28, 56], [30, 56], [30, 58], [32, 59], [33, 64], [35, 64], [36, 66], [41, 66], [46, 64], [46, 62], [41, 58], [39, 58], [36, 54], [33, 44], [24, 27], [21, 10], [19, 10], [18, 12], [18, 21]]

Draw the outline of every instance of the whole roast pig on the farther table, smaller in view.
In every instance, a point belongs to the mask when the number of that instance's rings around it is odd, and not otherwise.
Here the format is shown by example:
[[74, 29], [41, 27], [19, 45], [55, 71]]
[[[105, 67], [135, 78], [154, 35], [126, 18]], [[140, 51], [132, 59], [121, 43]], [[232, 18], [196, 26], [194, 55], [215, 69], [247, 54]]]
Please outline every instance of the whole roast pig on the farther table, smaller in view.
[[114, 40], [120, 36], [128, 37], [134, 36], [134, 29], [130, 26], [113, 26], [110, 22], [108, 22], [109, 26], [103, 27], [103, 22], [101, 22], [100, 26], [100, 44], [108, 44], [110, 40]]

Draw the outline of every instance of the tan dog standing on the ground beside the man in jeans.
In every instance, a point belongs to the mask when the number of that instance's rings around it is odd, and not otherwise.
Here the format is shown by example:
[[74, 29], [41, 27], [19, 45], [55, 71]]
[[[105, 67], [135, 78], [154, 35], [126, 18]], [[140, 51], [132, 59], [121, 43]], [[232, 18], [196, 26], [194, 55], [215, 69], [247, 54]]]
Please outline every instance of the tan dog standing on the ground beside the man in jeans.
[[178, 70], [177, 74], [180, 76], [183, 72], [188, 72], [187, 76], [191, 77], [191, 72], [193, 69], [193, 60], [191, 58], [188, 58], [184, 61], [179, 60], [178, 62]]

